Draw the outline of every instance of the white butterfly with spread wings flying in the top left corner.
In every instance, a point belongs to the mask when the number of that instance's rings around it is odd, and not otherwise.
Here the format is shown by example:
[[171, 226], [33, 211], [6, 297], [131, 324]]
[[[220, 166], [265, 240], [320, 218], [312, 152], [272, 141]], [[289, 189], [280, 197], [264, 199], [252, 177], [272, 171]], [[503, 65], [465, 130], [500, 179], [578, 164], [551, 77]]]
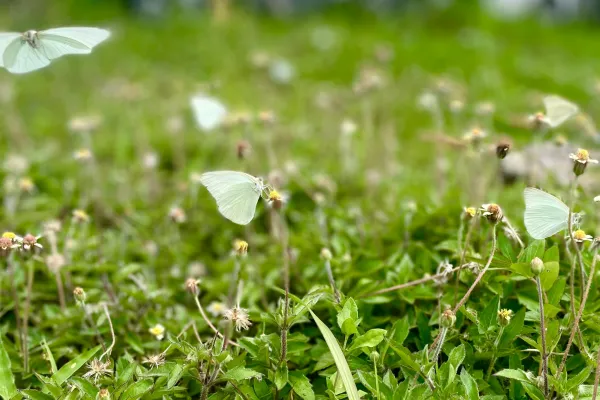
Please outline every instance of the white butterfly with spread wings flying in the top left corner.
[[109, 36], [105, 29], [83, 27], [0, 33], [0, 66], [13, 74], [35, 71], [66, 54], [89, 54]]

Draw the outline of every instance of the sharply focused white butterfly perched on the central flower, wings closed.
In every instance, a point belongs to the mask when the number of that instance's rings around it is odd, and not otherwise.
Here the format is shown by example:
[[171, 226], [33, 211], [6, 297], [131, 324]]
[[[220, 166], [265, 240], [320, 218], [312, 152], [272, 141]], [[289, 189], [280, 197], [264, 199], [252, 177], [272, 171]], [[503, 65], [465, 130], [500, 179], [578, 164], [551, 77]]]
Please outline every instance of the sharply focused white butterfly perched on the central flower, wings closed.
[[262, 179], [237, 171], [206, 172], [200, 182], [217, 201], [219, 212], [239, 225], [252, 221], [258, 199], [268, 187]]

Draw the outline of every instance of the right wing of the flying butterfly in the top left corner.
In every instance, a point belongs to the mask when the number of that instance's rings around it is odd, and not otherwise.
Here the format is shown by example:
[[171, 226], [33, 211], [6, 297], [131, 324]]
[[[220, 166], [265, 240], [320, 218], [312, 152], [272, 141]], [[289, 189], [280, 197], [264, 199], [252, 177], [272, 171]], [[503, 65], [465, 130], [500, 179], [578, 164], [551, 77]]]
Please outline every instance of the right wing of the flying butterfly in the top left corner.
[[40, 51], [50, 60], [66, 54], [89, 54], [109, 36], [106, 29], [84, 27], [54, 28], [38, 33]]

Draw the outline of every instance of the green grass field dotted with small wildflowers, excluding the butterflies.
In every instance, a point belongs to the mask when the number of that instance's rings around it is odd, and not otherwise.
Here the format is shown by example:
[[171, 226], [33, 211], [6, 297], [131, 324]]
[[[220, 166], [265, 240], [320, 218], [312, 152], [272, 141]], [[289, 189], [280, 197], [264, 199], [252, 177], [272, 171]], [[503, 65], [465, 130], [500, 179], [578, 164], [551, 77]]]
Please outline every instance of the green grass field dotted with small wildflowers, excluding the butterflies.
[[[581, 117], [543, 139], [526, 123], [545, 94], [600, 111], [598, 27], [470, 5], [222, 22], [3, 7], [3, 31], [112, 31], [89, 56], [0, 71], [2, 229], [43, 246], [2, 250], [5, 400], [594, 398], [597, 250], [529, 237], [525, 184], [502, 183], [494, 149], [564, 135], [598, 156]], [[190, 109], [200, 91], [229, 110], [211, 133]], [[263, 177], [283, 207], [226, 220], [198, 181], [222, 169]], [[537, 186], [594, 235], [598, 193]], [[485, 203], [505, 218], [465, 217]]]

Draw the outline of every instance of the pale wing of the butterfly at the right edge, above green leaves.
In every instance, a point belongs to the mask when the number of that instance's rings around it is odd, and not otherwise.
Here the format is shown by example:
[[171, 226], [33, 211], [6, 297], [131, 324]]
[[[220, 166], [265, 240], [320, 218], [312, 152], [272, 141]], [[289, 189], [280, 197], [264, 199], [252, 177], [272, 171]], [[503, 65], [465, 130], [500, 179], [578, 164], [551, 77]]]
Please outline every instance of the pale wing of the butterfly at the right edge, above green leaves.
[[526, 188], [525, 228], [534, 239], [546, 239], [568, 227], [569, 207], [543, 190]]

